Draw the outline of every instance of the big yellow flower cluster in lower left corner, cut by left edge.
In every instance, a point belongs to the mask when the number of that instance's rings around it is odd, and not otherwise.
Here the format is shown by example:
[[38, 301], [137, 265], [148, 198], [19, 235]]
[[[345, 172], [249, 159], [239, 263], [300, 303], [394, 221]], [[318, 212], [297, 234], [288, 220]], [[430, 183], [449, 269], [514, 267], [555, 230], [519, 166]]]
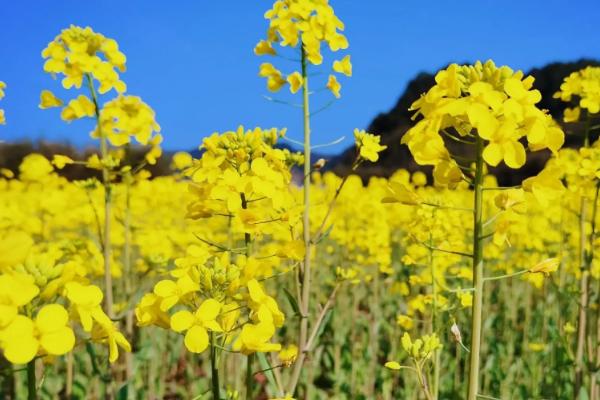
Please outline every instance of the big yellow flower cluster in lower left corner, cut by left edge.
[[[52, 249], [50, 249], [52, 250]], [[131, 351], [125, 337], [102, 311], [102, 292], [85, 282], [82, 268], [68, 254], [31, 252], [20, 264], [0, 274], [0, 349], [13, 364], [26, 364], [36, 356], [60, 356], [75, 346], [77, 323], [81, 340], [106, 343], [109, 360], [118, 347]], [[63, 305], [68, 303], [68, 309]]]

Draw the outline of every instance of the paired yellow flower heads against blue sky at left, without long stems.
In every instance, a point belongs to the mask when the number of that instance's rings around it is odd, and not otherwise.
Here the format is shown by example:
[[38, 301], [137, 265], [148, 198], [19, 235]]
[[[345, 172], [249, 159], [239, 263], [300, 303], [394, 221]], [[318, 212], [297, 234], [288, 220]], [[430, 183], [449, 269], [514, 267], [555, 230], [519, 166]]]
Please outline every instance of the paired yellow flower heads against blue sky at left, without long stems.
[[[89, 93], [79, 94], [65, 104], [51, 91], [43, 90], [40, 108], [62, 107], [61, 118], [66, 122], [95, 118], [96, 127], [91, 132], [93, 138], [100, 139], [101, 143], [107, 140], [114, 147], [123, 147], [135, 138], [139, 144], [149, 146], [146, 162], [156, 163], [162, 154], [162, 136], [158, 133], [160, 126], [154, 110], [140, 97], [122, 94], [126, 87], [117, 70], [125, 71], [125, 55], [119, 51], [115, 40], [89, 27], [71, 26], [50, 42], [42, 56], [48, 58], [44, 70], [53, 76], [64, 75], [62, 83], [66, 89], [81, 88], [85, 80]], [[104, 94], [113, 88], [119, 95], [101, 106], [96, 91]], [[89, 168], [110, 170], [120, 164], [122, 157], [108, 154], [108, 146], [101, 144], [101, 152], [102, 159], [93, 156], [87, 161]], [[72, 160], [67, 163], [72, 163]], [[64, 166], [64, 163], [60, 164]]]

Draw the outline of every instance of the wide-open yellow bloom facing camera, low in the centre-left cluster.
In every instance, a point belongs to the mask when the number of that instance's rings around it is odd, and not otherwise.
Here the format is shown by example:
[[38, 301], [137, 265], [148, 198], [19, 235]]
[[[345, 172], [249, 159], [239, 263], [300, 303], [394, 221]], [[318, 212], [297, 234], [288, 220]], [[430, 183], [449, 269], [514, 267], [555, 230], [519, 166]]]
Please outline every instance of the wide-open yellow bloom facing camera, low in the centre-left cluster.
[[208, 330], [222, 332], [223, 329], [216, 321], [221, 310], [221, 303], [208, 299], [200, 304], [192, 314], [187, 310], [178, 311], [171, 317], [171, 329], [184, 332], [185, 347], [192, 353], [202, 353], [208, 347]]

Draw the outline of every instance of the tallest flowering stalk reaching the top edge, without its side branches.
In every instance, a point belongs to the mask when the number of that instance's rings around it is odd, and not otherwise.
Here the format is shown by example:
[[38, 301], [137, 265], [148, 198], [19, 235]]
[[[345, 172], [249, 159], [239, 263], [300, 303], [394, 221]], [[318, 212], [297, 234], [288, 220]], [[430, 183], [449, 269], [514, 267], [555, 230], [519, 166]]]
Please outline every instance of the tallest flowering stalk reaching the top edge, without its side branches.
[[[323, 62], [321, 54], [321, 43], [326, 43], [332, 52], [346, 49], [348, 41], [346, 37], [338, 32], [343, 30], [343, 23], [334, 14], [333, 8], [327, 0], [278, 0], [273, 8], [265, 14], [270, 20], [267, 39], [260, 41], [254, 49], [257, 55], [278, 55], [273, 47], [279, 44], [282, 48], [290, 47], [298, 49], [300, 56], [300, 72], [295, 71], [284, 79], [282, 73], [270, 63], [263, 63], [260, 67], [260, 75], [267, 78], [267, 87], [276, 92], [285, 84], [290, 85], [292, 93], [302, 90], [302, 120], [303, 120], [303, 200], [304, 211], [302, 217], [304, 262], [299, 270], [300, 295], [297, 299], [302, 313], [300, 330], [298, 336], [298, 348], [300, 354], [294, 366], [294, 371], [288, 385], [288, 392], [296, 390], [300, 373], [306, 357], [307, 343], [309, 340], [309, 318], [312, 279], [312, 248], [314, 238], [311, 237], [310, 227], [310, 180], [312, 172], [311, 162], [311, 129], [310, 129], [310, 91], [309, 91], [309, 66], [320, 65]], [[342, 62], [344, 69], [342, 69]], [[352, 74], [350, 58], [347, 56], [342, 61], [336, 61], [333, 69], [350, 76]], [[340, 96], [340, 84], [335, 75], [329, 75], [327, 84], [332, 93]]]

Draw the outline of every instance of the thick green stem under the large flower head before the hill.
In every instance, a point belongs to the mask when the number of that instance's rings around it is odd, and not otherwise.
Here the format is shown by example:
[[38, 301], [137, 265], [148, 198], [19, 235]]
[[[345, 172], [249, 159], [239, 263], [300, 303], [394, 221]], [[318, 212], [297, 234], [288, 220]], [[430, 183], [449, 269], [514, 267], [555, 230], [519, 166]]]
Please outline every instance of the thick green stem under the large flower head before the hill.
[[471, 353], [467, 399], [475, 400], [479, 391], [479, 352], [483, 309], [483, 139], [477, 135], [473, 212], [473, 307], [471, 315]]

